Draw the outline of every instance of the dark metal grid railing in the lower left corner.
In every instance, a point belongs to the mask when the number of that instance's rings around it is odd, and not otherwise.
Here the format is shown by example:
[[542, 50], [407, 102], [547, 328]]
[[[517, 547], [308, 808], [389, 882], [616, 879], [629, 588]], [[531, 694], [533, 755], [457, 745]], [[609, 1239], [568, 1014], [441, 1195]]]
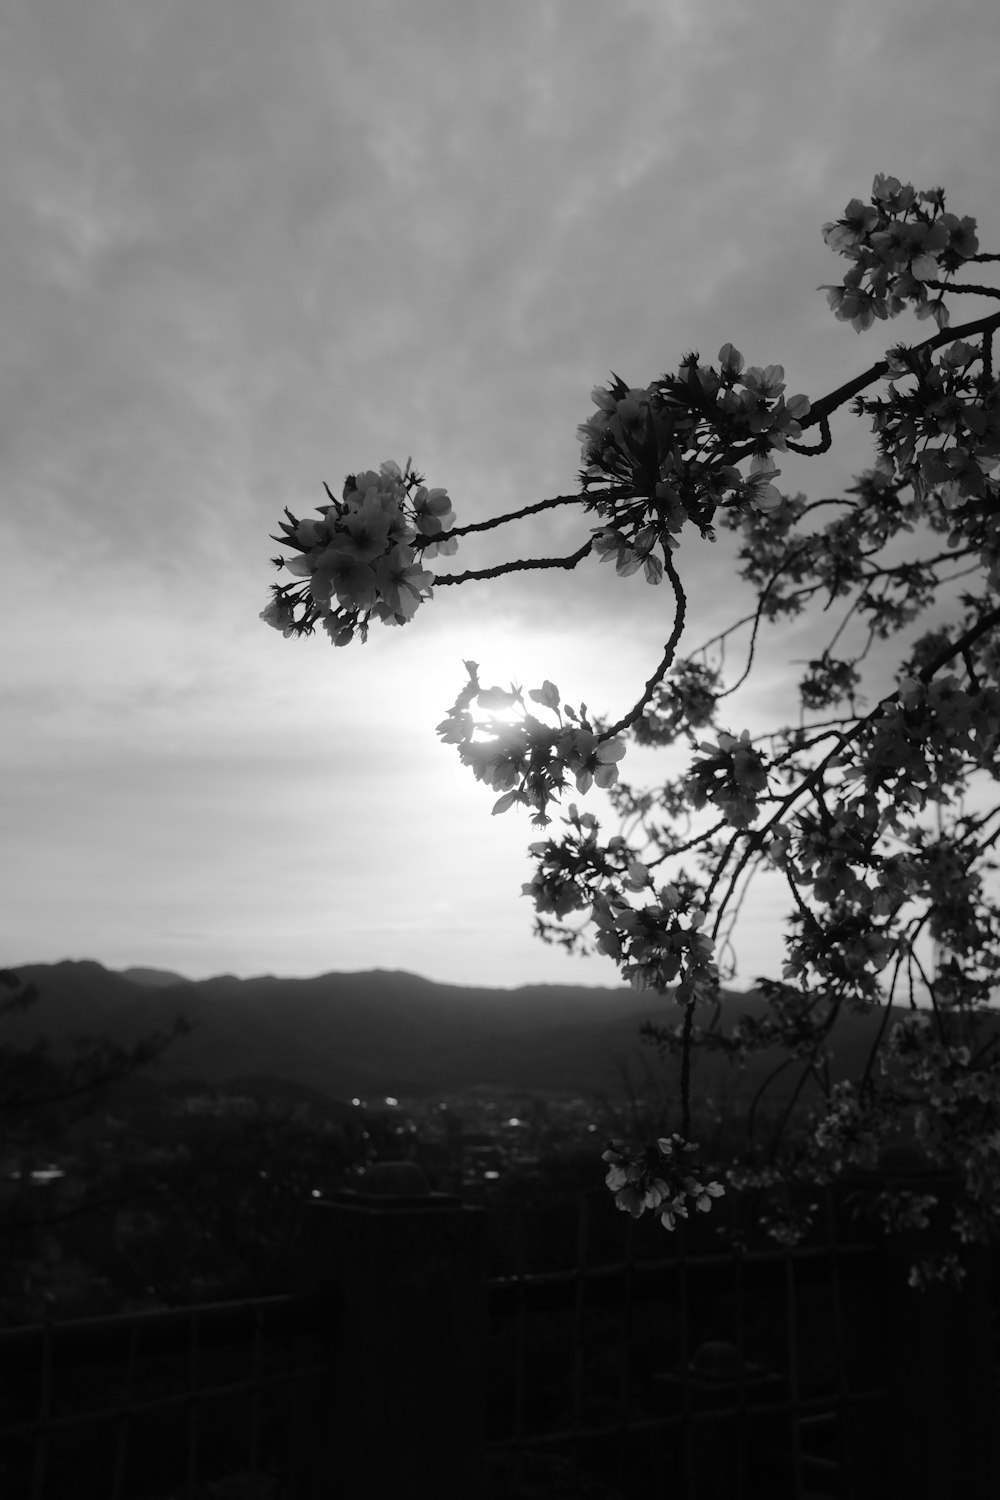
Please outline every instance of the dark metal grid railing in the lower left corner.
[[334, 1329], [319, 1299], [273, 1296], [0, 1330], [0, 1496], [195, 1500], [241, 1474], [270, 1500]]

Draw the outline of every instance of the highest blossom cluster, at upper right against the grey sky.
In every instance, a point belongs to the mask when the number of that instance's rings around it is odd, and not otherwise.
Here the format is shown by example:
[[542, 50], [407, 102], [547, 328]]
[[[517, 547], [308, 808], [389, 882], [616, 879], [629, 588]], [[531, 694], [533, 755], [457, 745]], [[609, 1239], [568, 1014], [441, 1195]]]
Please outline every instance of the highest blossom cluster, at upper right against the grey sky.
[[945, 212], [945, 192], [916, 192], [910, 183], [876, 176], [871, 201], [852, 198], [844, 216], [823, 225], [826, 244], [853, 264], [840, 286], [823, 286], [834, 315], [859, 333], [876, 318], [895, 318], [913, 304], [918, 318], [948, 324], [943, 292], [927, 282], [948, 276], [976, 255], [976, 220]]

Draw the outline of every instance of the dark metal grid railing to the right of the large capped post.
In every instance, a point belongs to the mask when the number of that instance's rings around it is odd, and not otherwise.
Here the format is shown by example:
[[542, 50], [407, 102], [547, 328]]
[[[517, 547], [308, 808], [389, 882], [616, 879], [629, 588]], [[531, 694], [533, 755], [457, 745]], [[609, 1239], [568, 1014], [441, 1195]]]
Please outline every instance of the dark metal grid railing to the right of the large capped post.
[[[888, 1392], [858, 1288], [871, 1244], [685, 1252], [490, 1280], [492, 1492], [850, 1497]], [[666, 1236], [664, 1236], [666, 1239]], [[882, 1371], [885, 1374], [885, 1371]]]

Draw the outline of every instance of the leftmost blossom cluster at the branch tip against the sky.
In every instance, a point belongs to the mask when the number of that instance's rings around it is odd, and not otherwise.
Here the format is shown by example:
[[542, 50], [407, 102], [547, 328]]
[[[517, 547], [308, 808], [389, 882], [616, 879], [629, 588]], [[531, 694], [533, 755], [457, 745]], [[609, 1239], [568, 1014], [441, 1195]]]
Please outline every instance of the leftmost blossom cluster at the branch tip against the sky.
[[405, 470], [387, 460], [378, 472], [349, 474], [342, 500], [330, 496], [318, 510], [319, 520], [285, 510], [283, 536], [274, 540], [294, 555], [276, 562], [304, 582], [274, 585], [261, 620], [285, 636], [321, 621], [337, 646], [355, 634], [367, 639], [372, 618], [387, 626], [412, 620], [433, 584], [423, 560], [457, 548], [448, 536], [454, 513], [447, 490], [427, 489], [409, 460]]

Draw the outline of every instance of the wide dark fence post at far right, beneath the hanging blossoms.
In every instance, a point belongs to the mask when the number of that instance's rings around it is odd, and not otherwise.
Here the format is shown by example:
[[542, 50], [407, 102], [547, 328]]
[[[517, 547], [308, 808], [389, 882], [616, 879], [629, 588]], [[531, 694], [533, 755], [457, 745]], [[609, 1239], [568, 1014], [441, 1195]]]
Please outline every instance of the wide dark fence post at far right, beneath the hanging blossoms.
[[918, 1290], [909, 1284], [913, 1262], [955, 1245], [945, 1232], [955, 1184], [931, 1172], [870, 1172], [852, 1185], [865, 1196], [892, 1186], [939, 1198], [927, 1232], [906, 1232], [883, 1246], [877, 1299], [870, 1300], [876, 1316], [862, 1323], [861, 1353], [867, 1347], [867, 1378], [885, 1384], [888, 1400], [853, 1414], [861, 1438], [852, 1458], [853, 1492], [861, 1500], [996, 1500], [996, 1252], [961, 1246], [961, 1284]]

